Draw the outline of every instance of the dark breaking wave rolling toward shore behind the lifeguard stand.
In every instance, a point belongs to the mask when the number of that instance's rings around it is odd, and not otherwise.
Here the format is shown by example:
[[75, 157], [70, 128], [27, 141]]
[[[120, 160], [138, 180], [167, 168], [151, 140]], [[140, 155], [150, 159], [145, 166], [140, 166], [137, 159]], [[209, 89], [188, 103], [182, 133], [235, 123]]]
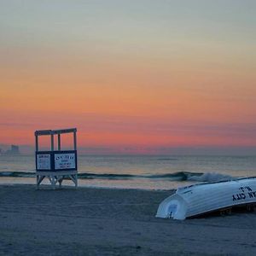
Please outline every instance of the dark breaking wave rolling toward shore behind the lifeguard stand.
[[[0, 177], [35, 177], [35, 172], [0, 172]], [[108, 180], [131, 180], [150, 179], [166, 181], [195, 181], [195, 182], [218, 182], [234, 179], [229, 175], [216, 172], [174, 172], [152, 175], [118, 174], [118, 173], [91, 173], [80, 172], [79, 179], [108, 179]]]

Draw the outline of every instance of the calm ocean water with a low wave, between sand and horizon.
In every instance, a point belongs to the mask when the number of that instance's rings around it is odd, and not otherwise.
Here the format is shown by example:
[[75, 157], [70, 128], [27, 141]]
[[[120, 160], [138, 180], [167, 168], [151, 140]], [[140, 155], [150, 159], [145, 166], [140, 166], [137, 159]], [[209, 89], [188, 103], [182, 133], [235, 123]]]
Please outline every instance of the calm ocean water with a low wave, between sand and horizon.
[[[177, 189], [256, 176], [256, 156], [79, 155], [78, 166], [79, 186], [99, 188]], [[34, 173], [34, 155], [0, 155], [0, 183], [36, 183]]]

